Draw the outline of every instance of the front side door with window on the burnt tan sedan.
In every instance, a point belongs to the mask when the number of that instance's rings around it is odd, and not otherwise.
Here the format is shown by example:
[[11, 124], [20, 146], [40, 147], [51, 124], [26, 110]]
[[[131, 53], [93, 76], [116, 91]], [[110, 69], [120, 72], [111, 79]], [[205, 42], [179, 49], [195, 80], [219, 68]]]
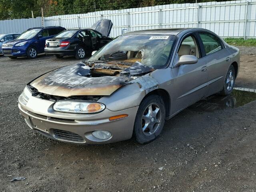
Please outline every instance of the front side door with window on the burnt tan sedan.
[[174, 98], [174, 113], [201, 100], [206, 94], [208, 71], [206, 60], [202, 58], [199, 41], [196, 34], [190, 34], [183, 38], [179, 51], [176, 54], [175, 64], [182, 55], [194, 55], [198, 58], [195, 64], [186, 64], [172, 69], [175, 77], [170, 93]]

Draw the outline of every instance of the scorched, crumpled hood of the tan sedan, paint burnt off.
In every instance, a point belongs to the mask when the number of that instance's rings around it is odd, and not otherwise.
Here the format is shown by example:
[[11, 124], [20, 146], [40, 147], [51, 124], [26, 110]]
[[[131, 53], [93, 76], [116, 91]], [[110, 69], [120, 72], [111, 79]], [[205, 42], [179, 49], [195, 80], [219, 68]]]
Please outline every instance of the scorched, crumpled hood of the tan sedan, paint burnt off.
[[139, 62], [79, 63], [48, 72], [30, 85], [38, 92], [54, 96], [107, 96], [134, 80], [134, 76], [152, 71], [153, 68]]

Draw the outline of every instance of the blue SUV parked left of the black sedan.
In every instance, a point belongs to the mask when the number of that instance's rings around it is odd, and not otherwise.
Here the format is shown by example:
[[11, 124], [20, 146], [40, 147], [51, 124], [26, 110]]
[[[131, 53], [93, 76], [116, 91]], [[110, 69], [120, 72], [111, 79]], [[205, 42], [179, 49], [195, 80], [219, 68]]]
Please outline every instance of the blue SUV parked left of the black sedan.
[[37, 54], [44, 52], [46, 39], [66, 30], [60, 26], [36, 27], [24, 31], [15, 40], [8, 41], [2, 45], [4, 56], [17, 58], [26, 56], [34, 59]]

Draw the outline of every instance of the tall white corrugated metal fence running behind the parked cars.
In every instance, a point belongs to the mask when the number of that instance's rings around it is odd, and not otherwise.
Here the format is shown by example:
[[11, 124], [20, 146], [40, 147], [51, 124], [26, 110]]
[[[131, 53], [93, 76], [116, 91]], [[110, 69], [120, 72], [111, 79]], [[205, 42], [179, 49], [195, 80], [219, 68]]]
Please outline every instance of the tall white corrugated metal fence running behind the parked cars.
[[256, 38], [256, 0], [170, 4], [58, 15], [45, 17], [44, 24], [67, 29], [90, 28], [101, 18], [112, 20], [112, 37], [120, 35], [123, 29], [130, 32], [154, 28], [198, 27], [209, 29], [223, 38]]

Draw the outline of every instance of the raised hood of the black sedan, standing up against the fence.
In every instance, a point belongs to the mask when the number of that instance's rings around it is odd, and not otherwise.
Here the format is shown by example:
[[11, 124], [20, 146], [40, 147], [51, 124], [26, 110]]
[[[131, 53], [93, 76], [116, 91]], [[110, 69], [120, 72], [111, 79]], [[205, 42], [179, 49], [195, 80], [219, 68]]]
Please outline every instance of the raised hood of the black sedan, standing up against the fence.
[[102, 35], [108, 37], [113, 23], [109, 19], [101, 19], [92, 25], [92, 29], [100, 32]]

